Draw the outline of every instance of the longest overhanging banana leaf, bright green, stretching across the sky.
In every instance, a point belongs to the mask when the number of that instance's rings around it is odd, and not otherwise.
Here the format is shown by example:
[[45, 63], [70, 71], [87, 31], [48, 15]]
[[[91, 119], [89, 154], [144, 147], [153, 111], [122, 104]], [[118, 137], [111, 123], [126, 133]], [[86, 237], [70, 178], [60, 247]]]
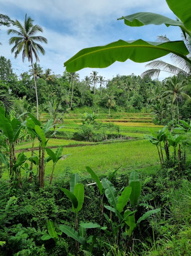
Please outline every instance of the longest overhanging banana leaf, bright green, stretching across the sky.
[[68, 59], [64, 65], [66, 71], [74, 72], [87, 67], [106, 68], [115, 61], [124, 62], [127, 59], [142, 63], [168, 53], [174, 53], [191, 63], [191, 60], [186, 58], [189, 52], [183, 41], [159, 43], [139, 39], [136, 41], [118, 40], [105, 46], [83, 49]]

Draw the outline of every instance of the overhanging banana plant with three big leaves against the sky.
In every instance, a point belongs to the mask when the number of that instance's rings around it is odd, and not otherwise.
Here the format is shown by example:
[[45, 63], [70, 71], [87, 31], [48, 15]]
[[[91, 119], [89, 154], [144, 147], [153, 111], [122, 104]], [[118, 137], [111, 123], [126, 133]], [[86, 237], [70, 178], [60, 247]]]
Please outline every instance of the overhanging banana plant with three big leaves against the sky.
[[[161, 25], [179, 26], [185, 38], [191, 42], [191, 5], [190, 0], [166, 0], [169, 8], [178, 17], [178, 20], [159, 15], [157, 13], [140, 12], [128, 16], [122, 16], [118, 20], [124, 20], [128, 26]], [[144, 40], [124, 41], [118, 40], [105, 46], [86, 48], [68, 59], [64, 66], [66, 71], [75, 72], [82, 68], [105, 68], [115, 61], [124, 62], [131, 59], [134, 62], [143, 63], [173, 53], [180, 56], [183, 61], [191, 65], [191, 59], [187, 57], [188, 49], [183, 41], [168, 41], [165, 43]]]

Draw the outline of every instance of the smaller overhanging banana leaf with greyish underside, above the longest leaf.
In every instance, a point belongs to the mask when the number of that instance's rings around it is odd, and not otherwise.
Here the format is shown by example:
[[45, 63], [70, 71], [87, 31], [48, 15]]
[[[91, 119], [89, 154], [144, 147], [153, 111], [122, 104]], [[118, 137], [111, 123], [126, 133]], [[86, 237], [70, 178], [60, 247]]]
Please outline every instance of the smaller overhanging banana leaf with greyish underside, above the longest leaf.
[[182, 26], [181, 21], [172, 20], [163, 15], [152, 13], [152, 12], [138, 12], [128, 16], [122, 16], [118, 20], [123, 20], [124, 23], [128, 26], [144, 26], [144, 25], [161, 25], [165, 24], [166, 26]]

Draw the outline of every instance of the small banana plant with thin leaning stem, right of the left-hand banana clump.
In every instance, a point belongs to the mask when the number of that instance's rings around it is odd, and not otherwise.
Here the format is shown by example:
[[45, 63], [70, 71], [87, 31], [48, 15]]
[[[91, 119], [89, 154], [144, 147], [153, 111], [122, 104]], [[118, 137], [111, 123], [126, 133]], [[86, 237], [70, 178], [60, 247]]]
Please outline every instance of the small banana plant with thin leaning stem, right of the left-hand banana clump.
[[47, 154], [49, 155], [46, 159], [45, 159], [45, 163], [49, 162], [50, 160], [52, 160], [53, 162], [53, 166], [52, 166], [52, 173], [50, 176], [50, 184], [52, 183], [52, 178], [53, 178], [53, 172], [55, 169], [55, 165], [57, 164], [58, 160], [60, 160], [62, 157], [66, 157], [68, 155], [62, 155], [63, 152], [63, 147], [58, 147], [56, 149], [56, 152], [54, 153], [51, 149], [45, 148]]

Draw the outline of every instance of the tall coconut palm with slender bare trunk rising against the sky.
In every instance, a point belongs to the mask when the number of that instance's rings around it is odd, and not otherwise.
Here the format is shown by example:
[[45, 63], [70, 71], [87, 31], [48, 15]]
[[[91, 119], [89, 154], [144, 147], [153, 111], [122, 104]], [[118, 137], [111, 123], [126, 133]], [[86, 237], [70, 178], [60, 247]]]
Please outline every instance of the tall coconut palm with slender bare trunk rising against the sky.
[[27, 57], [28, 61], [31, 61], [32, 71], [33, 71], [33, 77], [34, 77], [34, 88], [36, 93], [36, 107], [37, 107], [37, 119], [39, 118], [39, 102], [38, 102], [38, 94], [37, 94], [37, 86], [36, 86], [36, 79], [35, 79], [35, 73], [34, 73], [34, 65], [33, 65], [33, 55], [36, 59], [36, 61], [39, 61], [39, 51], [42, 53], [42, 55], [45, 54], [44, 48], [39, 43], [36, 43], [36, 41], [40, 43], [47, 43], [47, 39], [43, 36], [35, 36], [37, 32], [43, 32], [42, 28], [39, 25], [33, 25], [33, 21], [31, 17], [27, 18], [27, 15], [25, 15], [24, 24], [22, 25], [18, 20], [15, 20], [15, 26], [19, 29], [9, 29], [8, 35], [15, 34], [16, 36], [13, 36], [10, 38], [9, 43], [10, 45], [13, 45], [13, 48], [11, 49], [11, 53], [15, 52], [15, 58], [21, 53], [23, 55], [23, 62], [24, 59]]

